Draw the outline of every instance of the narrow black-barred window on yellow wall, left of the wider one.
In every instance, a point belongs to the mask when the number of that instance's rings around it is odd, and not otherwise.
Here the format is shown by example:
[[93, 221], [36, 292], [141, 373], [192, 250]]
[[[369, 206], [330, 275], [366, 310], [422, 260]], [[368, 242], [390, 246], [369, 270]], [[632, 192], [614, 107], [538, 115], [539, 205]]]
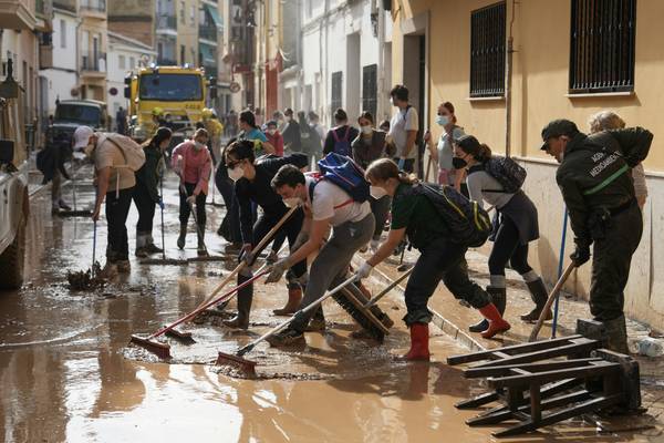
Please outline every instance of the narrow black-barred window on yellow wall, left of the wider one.
[[470, 96], [505, 94], [505, 2], [470, 14]]

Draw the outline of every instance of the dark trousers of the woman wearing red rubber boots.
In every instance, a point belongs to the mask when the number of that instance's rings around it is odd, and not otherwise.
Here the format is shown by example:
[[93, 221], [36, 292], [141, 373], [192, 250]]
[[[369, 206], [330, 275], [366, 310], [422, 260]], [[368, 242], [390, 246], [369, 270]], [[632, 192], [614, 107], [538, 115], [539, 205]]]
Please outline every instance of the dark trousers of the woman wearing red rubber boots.
[[447, 238], [438, 238], [421, 250], [404, 293], [407, 313], [403, 320], [406, 326], [432, 321], [427, 302], [440, 280], [454, 298], [465, 300], [475, 309], [490, 302], [487, 292], [468, 278], [466, 249]]

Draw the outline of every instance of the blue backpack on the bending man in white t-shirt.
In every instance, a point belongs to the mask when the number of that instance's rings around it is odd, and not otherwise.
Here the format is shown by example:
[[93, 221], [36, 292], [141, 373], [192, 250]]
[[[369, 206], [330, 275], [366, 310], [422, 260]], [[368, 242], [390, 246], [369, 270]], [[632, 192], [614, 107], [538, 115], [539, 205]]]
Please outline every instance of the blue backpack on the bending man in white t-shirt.
[[[351, 199], [349, 203], [364, 203], [369, 199], [369, 182], [364, 178], [364, 171], [357, 166], [351, 157], [330, 153], [318, 162], [320, 173], [309, 174], [314, 178], [314, 183], [309, 186], [309, 197], [313, 200], [313, 188], [323, 179], [326, 179], [345, 190]], [[338, 209], [339, 207], [335, 207]]]

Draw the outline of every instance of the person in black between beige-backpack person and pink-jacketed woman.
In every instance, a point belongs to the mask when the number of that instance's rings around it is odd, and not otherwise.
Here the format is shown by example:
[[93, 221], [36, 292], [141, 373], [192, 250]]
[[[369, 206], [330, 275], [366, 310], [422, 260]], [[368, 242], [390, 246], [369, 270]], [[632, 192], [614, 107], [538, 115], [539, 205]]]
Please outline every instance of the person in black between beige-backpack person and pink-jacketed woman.
[[134, 204], [138, 210], [136, 223], [136, 257], [145, 258], [151, 254], [163, 253], [155, 245], [152, 236], [155, 205], [163, 208], [163, 196], [159, 195], [157, 185], [160, 178], [159, 165], [164, 158], [164, 151], [170, 143], [173, 132], [168, 127], [159, 127], [156, 134], [143, 145], [145, 164], [136, 172], [136, 186], [134, 187]]

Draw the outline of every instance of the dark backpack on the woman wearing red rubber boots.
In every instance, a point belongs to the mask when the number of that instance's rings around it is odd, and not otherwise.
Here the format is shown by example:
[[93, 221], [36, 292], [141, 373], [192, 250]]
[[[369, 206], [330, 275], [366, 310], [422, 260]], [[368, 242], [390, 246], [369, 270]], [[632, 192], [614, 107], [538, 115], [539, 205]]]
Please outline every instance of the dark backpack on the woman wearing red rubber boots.
[[421, 183], [412, 189], [415, 195], [424, 195], [434, 205], [456, 243], [477, 248], [489, 238], [491, 220], [477, 202], [469, 200], [452, 186]]

